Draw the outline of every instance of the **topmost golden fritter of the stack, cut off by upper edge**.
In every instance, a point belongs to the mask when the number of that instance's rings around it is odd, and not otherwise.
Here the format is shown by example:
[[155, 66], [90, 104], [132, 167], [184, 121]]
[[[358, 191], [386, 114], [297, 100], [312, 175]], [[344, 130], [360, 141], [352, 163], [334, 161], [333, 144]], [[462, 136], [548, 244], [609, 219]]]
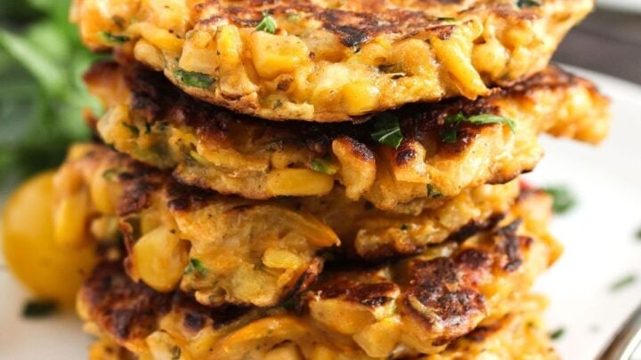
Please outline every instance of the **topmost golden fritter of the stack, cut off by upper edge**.
[[118, 49], [202, 100], [274, 120], [345, 121], [475, 99], [548, 64], [592, 0], [76, 0]]

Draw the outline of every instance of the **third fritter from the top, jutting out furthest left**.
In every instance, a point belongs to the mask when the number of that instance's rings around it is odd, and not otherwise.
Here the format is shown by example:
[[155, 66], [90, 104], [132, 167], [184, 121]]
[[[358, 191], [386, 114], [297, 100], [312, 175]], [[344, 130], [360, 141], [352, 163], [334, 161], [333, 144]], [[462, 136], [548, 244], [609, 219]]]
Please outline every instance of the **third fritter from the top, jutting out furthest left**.
[[247, 200], [185, 187], [109, 148], [79, 144], [56, 174], [54, 227], [64, 244], [114, 240], [121, 231], [129, 274], [160, 292], [180, 286], [207, 305], [265, 307], [303, 291], [321, 271], [322, 251], [381, 260], [464, 240], [494, 226], [518, 193], [516, 182], [469, 189], [417, 215], [352, 202], [340, 188]]

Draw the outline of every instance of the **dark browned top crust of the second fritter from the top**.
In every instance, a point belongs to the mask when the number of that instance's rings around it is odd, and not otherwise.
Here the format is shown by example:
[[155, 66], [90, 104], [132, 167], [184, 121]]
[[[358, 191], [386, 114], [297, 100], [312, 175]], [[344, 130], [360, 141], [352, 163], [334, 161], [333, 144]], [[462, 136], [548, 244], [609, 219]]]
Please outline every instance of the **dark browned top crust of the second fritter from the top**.
[[[102, 76], [113, 71], [114, 68], [114, 64], [109, 62], [96, 63], [85, 74], [85, 81], [89, 84], [98, 83]], [[176, 88], [161, 73], [141, 65], [132, 65], [125, 71], [126, 84], [132, 92], [131, 106], [135, 116], [141, 117], [147, 124], [166, 121], [171, 126], [189, 126], [194, 129], [200, 139], [209, 143], [231, 146], [232, 138], [228, 129], [232, 123], [235, 123], [252, 129], [252, 132], [260, 133], [262, 138], [271, 137], [274, 140], [274, 146], [287, 142], [293, 143], [309, 149], [320, 157], [329, 154], [331, 142], [337, 138], [347, 140], [346, 143], [351, 145], [353, 154], [358, 154], [363, 160], [371, 159], [373, 149], [380, 146], [371, 138], [374, 122], [369, 120], [376, 116], [361, 116], [352, 123], [337, 124], [310, 124], [304, 121], [271, 122], [237, 114], [205, 101], [196, 100]], [[445, 124], [445, 119], [449, 116], [455, 116], [458, 113], [465, 116], [500, 114], [499, 100], [527, 99], [533, 92], [574, 86], [586, 87], [594, 96], [603, 97], [596, 86], [588, 80], [573, 76], [562, 68], [550, 66], [539, 74], [512, 87], [497, 90], [486, 98], [443, 100], [436, 104], [410, 104], [390, 110], [386, 113], [399, 119], [404, 139], [401, 147], [394, 150], [395, 165], [408, 164], [416, 156], [406, 148], [410, 142], [434, 142], [438, 140], [439, 133], [453, 129], [451, 124]], [[483, 131], [483, 127], [484, 125], [469, 123], [458, 124], [457, 141], [441, 143], [438, 148], [439, 154], [448, 156], [448, 154], [456, 155], [464, 152]], [[518, 174], [493, 182], [507, 182]]]

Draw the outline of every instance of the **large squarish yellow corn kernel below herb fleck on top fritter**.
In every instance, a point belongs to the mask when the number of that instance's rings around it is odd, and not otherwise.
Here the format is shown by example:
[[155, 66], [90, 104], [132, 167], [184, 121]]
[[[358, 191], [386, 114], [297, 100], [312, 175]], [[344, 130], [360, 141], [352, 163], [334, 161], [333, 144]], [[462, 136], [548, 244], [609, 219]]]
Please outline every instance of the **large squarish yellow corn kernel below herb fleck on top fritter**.
[[296, 36], [275, 36], [264, 31], [251, 35], [251, 52], [258, 75], [272, 80], [293, 72], [309, 59], [309, 50]]

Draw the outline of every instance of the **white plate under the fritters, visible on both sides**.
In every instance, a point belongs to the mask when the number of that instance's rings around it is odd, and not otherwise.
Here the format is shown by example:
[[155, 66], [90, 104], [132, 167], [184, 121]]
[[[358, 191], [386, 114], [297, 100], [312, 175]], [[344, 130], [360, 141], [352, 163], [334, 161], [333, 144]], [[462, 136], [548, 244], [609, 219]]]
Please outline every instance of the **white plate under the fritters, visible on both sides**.
[[[527, 178], [538, 185], [565, 184], [579, 199], [556, 218], [553, 230], [564, 256], [536, 288], [551, 298], [548, 323], [563, 327], [556, 348], [567, 359], [597, 356], [641, 303], [641, 281], [618, 292], [610, 286], [631, 273], [641, 280], [641, 87], [576, 69], [613, 99], [613, 131], [599, 148], [544, 139], [548, 156]], [[2, 257], [0, 257], [0, 261]], [[90, 338], [72, 315], [25, 320], [27, 294], [0, 262], [0, 358], [82, 359]]]

